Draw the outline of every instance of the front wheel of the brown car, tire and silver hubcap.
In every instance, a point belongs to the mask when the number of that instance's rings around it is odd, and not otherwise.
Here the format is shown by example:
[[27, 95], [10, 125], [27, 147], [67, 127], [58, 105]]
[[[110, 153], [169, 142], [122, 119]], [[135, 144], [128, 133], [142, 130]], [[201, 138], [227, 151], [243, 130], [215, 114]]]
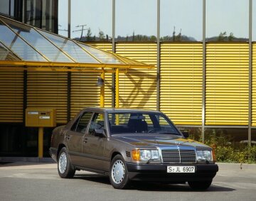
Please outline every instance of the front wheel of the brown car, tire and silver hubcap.
[[129, 184], [127, 167], [124, 163], [124, 158], [120, 155], [114, 156], [111, 161], [110, 183], [117, 189], [125, 189]]

